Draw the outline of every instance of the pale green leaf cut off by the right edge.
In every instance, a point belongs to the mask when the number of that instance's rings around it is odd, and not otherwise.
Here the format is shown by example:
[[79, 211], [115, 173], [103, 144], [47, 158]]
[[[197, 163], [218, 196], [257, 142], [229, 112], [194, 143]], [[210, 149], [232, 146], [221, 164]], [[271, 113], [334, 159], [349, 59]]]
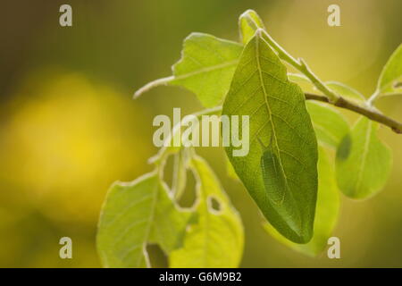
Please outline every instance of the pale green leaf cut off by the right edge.
[[395, 52], [389, 57], [381, 71], [378, 80], [377, 89], [381, 94], [402, 93], [402, 88], [397, 84], [402, 83], [402, 44], [398, 46]]

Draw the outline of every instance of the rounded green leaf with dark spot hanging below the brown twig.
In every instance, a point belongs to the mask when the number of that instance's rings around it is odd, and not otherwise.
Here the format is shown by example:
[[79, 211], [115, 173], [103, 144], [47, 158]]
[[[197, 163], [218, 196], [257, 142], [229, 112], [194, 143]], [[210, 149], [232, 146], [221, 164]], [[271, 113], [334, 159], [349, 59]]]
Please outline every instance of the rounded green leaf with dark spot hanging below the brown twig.
[[360, 117], [339, 145], [336, 176], [339, 189], [350, 198], [368, 198], [382, 189], [389, 177], [389, 147], [377, 137], [379, 124]]

